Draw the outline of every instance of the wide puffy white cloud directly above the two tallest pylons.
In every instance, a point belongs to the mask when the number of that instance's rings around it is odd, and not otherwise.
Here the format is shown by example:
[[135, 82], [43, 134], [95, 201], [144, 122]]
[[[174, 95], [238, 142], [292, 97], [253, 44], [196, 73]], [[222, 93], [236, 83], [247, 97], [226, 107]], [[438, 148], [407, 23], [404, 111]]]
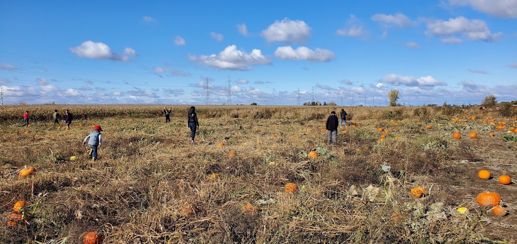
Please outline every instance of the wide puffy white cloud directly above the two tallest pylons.
[[236, 45], [227, 46], [218, 55], [196, 57], [189, 54], [188, 59], [221, 70], [252, 70], [251, 65], [271, 63], [261, 50], [254, 49], [246, 53], [237, 50]]

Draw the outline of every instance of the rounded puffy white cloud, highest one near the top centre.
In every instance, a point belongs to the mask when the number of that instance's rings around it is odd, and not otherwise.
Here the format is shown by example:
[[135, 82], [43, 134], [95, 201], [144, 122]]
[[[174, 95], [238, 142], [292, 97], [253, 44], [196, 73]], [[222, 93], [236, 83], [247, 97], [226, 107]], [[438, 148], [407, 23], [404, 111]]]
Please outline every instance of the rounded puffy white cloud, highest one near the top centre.
[[311, 27], [301, 20], [283, 19], [275, 21], [261, 32], [268, 42], [283, 41], [287, 44], [307, 42], [311, 38]]

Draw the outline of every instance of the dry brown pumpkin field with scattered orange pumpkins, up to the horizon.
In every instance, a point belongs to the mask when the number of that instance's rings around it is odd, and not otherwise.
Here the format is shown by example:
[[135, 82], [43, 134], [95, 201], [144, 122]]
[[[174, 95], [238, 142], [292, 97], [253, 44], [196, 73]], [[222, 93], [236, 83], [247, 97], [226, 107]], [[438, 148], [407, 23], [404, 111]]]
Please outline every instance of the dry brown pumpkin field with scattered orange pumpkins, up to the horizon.
[[0, 243], [517, 242], [515, 108], [167, 107], [0, 107]]

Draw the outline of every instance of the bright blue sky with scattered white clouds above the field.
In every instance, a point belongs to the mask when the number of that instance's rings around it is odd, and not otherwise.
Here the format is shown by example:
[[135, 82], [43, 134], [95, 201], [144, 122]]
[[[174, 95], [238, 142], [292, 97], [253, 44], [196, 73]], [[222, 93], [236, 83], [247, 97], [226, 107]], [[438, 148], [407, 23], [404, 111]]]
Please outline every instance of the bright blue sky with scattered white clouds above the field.
[[[0, 2], [4, 104], [517, 100], [517, 0]], [[299, 91], [298, 91], [299, 90]]]

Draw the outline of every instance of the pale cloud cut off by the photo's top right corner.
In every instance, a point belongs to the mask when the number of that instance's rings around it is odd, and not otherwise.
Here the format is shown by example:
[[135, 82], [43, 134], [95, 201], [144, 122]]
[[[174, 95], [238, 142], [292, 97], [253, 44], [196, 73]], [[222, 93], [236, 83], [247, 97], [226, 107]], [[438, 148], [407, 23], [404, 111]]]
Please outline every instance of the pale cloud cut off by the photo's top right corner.
[[451, 5], [470, 6], [501, 18], [517, 18], [517, 0], [449, 0]]

